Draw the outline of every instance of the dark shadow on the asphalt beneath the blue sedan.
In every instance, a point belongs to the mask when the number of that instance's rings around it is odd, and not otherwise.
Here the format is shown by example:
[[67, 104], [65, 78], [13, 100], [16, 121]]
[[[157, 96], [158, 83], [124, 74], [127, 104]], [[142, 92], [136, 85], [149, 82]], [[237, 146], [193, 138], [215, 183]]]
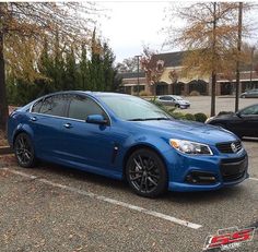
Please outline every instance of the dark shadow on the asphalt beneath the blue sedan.
[[[102, 188], [109, 189], [112, 191], [130, 194], [132, 197], [143, 199], [144, 201], [159, 201], [163, 203], [178, 203], [178, 204], [199, 204], [199, 203], [211, 203], [223, 200], [228, 200], [234, 196], [239, 195], [243, 192], [243, 187], [235, 185], [232, 188], [224, 188], [215, 191], [203, 191], [203, 192], [166, 192], [156, 199], [146, 199], [133, 194], [130, 190], [128, 183], [122, 180], [115, 180], [112, 178], [106, 178], [104, 176], [94, 175], [87, 171], [73, 169], [60, 165], [52, 164], [40, 164], [40, 170], [46, 170], [48, 175], [57, 175], [62, 177], [69, 177], [80, 182], [93, 183]], [[107, 192], [107, 191], [106, 191]]]

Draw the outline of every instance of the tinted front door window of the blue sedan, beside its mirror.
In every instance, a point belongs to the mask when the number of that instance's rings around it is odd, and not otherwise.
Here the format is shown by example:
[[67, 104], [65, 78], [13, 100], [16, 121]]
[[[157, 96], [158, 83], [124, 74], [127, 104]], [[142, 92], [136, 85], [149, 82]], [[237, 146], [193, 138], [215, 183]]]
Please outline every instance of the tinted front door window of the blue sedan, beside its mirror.
[[71, 98], [68, 117], [85, 121], [86, 117], [90, 115], [102, 115], [106, 118], [103, 109], [94, 100], [85, 96], [73, 96]]

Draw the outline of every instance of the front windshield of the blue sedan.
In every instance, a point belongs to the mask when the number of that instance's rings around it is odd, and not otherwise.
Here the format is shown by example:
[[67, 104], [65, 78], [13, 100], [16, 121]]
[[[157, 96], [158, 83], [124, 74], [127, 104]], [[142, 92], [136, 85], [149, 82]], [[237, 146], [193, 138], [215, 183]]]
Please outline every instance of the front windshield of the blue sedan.
[[169, 120], [171, 117], [155, 105], [134, 96], [102, 96], [101, 99], [117, 117], [129, 121]]

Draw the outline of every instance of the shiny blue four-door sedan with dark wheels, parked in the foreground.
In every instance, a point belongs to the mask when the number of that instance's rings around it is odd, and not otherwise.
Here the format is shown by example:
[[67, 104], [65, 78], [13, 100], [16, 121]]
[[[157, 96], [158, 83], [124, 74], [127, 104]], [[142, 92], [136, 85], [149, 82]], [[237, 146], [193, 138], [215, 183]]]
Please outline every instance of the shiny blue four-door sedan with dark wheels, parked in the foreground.
[[141, 196], [216, 190], [248, 177], [241, 140], [222, 128], [175, 120], [141, 98], [60, 92], [9, 117], [21, 167], [38, 159], [125, 179]]

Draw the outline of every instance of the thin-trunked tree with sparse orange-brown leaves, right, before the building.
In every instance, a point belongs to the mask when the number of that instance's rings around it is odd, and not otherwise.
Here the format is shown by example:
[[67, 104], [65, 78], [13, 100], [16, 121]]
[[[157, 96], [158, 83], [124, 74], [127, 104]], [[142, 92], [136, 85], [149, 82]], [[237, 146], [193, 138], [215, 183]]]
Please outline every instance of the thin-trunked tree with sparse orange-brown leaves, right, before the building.
[[[244, 4], [248, 10], [250, 4]], [[235, 2], [199, 2], [171, 10], [185, 21], [179, 29], [168, 27], [166, 45], [181, 46], [189, 52], [183, 61], [185, 72], [211, 76], [211, 116], [215, 115], [215, 84], [218, 73], [235, 70], [241, 60], [237, 51], [237, 11]], [[248, 26], [243, 25], [243, 33]]]

